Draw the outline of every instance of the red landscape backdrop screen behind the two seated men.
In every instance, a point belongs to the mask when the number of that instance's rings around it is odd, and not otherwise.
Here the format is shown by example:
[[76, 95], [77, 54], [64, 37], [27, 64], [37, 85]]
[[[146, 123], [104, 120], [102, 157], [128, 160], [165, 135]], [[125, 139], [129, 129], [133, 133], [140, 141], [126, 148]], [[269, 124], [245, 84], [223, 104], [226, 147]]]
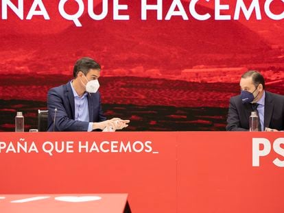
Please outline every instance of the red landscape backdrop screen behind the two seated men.
[[[120, 14], [130, 20], [113, 20], [113, 1], [108, 1], [106, 18], [94, 21], [84, 0], [82, 27], [60, 15], [59, 1], [43, 1], [50, 20], [26, 20], [33, 2], [24, 2], [23, 20], [10, 8], [8, 19], [0, 19], [0, 131], [14, 129], [17, 110], [31, 118], [27, 128], [36, 127], [47, 90], [72, 79], [73, 64], [82, 56], [102, 64], [104, 111], [134, 121], [130, 131], [224, 130], [228, 99], [239, 93], [239, 78], [248, 69], [261, 71], [268, 90], [283, 94], [284, 21], [265, 14], [265, 1], [259, 1], [261, 20], [255, 12], [248, 21], [243, 12], [233, 20], [237, 1], [230, 0], [220, 3], [228, 4], [221, 13], [231, 20], [217, 21], [214, 1], [200, 0], [196, 11], [209, 13], [209, 20], [193, 18], [189, 1], [182, 1], [189, 20], [165, 21], [173, 1], [164, 0], [162, 21], [156, 11], [142, 21], [141, 1], [121, 0], [128, 10]], [[248, 8], [251, 1], [245, 2]], [[67, 1], [64, 8], [73, 14], [78, 3]], [[281, 14], [283, 1], [274, 0], [270, 10]], [[100, 1], [94, 11], [102, 11]]]

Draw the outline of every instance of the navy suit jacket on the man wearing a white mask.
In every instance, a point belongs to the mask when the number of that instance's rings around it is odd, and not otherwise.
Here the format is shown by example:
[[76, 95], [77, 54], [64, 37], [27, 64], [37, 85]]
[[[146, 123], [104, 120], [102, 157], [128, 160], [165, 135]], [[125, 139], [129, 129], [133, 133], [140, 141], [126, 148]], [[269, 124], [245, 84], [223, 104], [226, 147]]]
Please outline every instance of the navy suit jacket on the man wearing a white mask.
[[[102, 112], [99, 92], [88, 94], [88, 114], [90, 122], [105, 121]], [[88, 122], [75, 121], [75, 102], [71, 82], [51, 88], [47, 95], [48, 128], [47, 131], [87, 131]], [[56, 112], [56, 125], [54, 127], [54, 114]]]

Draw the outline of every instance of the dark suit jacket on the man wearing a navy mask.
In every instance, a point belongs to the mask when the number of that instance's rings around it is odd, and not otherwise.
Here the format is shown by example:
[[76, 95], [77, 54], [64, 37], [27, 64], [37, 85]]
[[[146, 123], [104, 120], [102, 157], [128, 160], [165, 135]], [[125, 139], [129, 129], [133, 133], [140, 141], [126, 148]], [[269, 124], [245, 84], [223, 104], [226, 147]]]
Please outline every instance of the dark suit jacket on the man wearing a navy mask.
[[[242, 103], [240, 95], [230, 99], [227, 131], [248, 131], [252, 105]], [[264, 128], [284, 129], [284, 96], [265, 91]]]

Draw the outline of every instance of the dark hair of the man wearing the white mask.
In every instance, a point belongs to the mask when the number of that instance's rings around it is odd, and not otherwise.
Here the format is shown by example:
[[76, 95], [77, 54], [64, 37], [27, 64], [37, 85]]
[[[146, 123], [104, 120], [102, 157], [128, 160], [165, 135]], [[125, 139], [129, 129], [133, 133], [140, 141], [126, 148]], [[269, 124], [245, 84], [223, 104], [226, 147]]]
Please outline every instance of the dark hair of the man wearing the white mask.
[[97, 62], [95, 62], [93, 59], [91, 58], [80, 58], [74, 65], [73, 68], [73, 77], [77, 77], [78, 73], [81, 71], [82, 73], [84, 73], [84, 75], [88, 74], [88, 71], [90, 69], [97, 69], [97, 70], [101, 70], [101, 66], [99, 66], [99, 64], [97, 64]]

